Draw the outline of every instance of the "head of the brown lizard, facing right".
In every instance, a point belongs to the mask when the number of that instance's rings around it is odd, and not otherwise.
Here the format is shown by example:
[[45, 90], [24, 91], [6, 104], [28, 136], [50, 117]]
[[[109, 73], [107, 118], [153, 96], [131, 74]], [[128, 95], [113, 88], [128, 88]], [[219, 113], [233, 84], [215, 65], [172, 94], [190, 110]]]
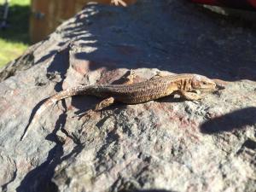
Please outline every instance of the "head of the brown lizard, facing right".
[[193, 90], [215, 90], [216, 84], [212, 79], [195, 74], [191, 79], [191, 88]]

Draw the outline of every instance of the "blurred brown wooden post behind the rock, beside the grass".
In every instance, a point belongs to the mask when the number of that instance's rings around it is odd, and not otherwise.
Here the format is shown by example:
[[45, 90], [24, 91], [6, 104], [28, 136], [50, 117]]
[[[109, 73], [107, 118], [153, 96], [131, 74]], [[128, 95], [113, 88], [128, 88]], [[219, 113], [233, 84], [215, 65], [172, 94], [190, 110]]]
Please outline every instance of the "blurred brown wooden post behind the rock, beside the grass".
[[[44, 39], [61, 22], [71, 18], [86, 3], [91, 0], [32, 0], [32, 15], [30, 19], [30, 37], [32, 43]], [[94, 0], [94, 2], [110, 4], [111, 0]], [[125, 3], [135, 3], [136, 0], [124, 0]]]

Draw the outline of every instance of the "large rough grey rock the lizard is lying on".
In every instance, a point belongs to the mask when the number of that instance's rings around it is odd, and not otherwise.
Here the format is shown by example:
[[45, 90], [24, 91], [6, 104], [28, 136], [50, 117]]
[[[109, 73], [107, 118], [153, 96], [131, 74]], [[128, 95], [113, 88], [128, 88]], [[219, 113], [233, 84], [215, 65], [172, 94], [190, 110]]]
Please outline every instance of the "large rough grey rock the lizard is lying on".
[[[181, 0], [127, 9], [91, 4], [0, 72], [2, 191], [248, 191], [256, 189], [256, 31], [248, 21]], [[116, 104], [44, 98], [77, 84], [137, 81], [158, 70], [200, 73], [226, 88], [201, 102]]]

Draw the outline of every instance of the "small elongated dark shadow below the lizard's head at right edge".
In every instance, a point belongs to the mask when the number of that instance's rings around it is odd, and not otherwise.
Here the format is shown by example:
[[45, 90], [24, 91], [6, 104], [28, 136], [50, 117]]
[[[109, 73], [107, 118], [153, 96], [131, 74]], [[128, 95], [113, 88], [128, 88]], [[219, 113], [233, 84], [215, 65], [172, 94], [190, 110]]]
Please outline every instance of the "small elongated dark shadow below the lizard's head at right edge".
[[256, 108], [242, 108], [221, 117], [209, 119], [201, 125], [201, 132], [216, 133], [242, 129], [247, 125], [256, 124]]

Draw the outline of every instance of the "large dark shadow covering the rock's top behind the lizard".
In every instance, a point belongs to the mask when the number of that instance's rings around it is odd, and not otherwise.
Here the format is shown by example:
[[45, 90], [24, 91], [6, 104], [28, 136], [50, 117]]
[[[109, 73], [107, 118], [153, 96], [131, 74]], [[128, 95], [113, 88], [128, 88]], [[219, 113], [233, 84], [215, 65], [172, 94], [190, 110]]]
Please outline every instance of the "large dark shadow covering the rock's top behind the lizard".
[[[166, 12], [158, 14], [160, 18], [157, 14], [153, 18], [148, 17], [150, 10], [136, 12], [131, 18], [129, 14], [124, 14], [124, 9], [87, 5], [87, 9], [76, 17], [75, 23], [80, 25], [63, 27], [63, 32], [65, 38], [76, 38], [80, 48], [96, 49], [91, 52], [82, 49], [72, 55], [73, 60], [80, 63], [79, 67], [84, 67], [84, 61], [87, 61], [89, 71], [96, 71], [102, 67], [107, 70], [117, 67], [147, 67], [172, 73], [199, 73], [211, 79], [227, 81], [256, 80], [253, 60], [253, 42], [256, 38], [250, 38], [252, 44], [247, 44], [244, 40], [247, 38], [247, 32], [254, 32], [253, 26], [244, 26], [245, 21], [242, 20], [234, 24], [234, 18], [213, 14], [188, 3], [174, 1], [174, 4], [183, 7], [183, 13], [178, 15], [187, 14], [189, 11], [189, 22], [187, 17], [177, 17], [175, 11], [168, 10], [172, 6], [166, 3], [159, 3], [159, 6], [166, 9]], [[131, 6], [129, 10], [132, 11], [137, 6]], [[148, 9], [148, 3], [139, 6], [140, 9]], [[100, 19], [102, 15], [108, 17], [108, 22]], [[170, 23], [172, 17], [177, 18], [177, 22]], [[122, 18], [122, 21], [117, 18]], [[147, 30], [144, 26], [145, 20], [152, 24], [152, 27], [147, 26]], [[125, 22], [129, 25], [125, 25]], [[99, 30], [98, 26], [104, 30]], [[160, 28], [164, 28], [165, 31], [159, 30]], [[226, 30], [220, 31], [221, 28]], [[237, 35], [239, 30], [242, 30], [241, 35]], [[233, 37], [236, 40], [226, 37]], [[247, 56], [237, 54], [243, 53], [244, 49], [247, 49]]]

